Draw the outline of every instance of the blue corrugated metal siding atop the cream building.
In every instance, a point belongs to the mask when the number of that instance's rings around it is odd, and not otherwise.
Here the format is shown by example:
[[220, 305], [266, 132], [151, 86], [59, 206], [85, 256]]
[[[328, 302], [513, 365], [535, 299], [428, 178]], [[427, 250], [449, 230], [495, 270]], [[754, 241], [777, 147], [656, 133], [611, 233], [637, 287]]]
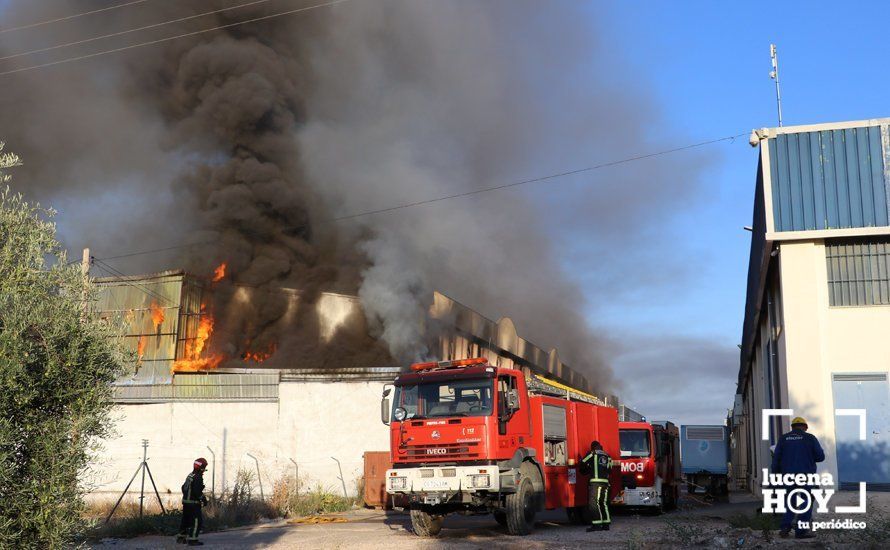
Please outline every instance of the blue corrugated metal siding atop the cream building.
[[880, 127], [780, 134], [769, 155], [776, 231], [890, 225]]

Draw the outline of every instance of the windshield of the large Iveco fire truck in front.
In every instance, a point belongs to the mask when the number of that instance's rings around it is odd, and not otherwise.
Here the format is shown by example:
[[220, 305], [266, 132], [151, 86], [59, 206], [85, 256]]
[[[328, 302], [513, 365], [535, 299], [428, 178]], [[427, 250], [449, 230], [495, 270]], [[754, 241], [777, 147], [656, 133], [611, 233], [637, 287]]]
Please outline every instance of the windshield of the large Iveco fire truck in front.
[[407, 418], [488, 416], [493, 391], [491, 378], [410, 384], [396, 387], [393, 406], [405, 409]]

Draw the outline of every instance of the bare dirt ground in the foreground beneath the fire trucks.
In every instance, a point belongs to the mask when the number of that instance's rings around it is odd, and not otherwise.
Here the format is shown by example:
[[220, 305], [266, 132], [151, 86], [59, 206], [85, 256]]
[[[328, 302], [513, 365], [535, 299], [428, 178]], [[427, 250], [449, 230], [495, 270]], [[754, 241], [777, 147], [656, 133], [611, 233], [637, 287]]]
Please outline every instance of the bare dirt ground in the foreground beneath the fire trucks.
[[[843, 493], [832, 505], [855, 504], [855, 495]], [[571, 525], [561, 511], [538, 516], [534, 533], [511, 537], [491, 516], [449, 516], [439, 537], [422, 539], [411, 532], [407, 514], [379, 510], [355, 510], [331, 516], [332, 523], [271, 522], [201, 536], [209, 548], [881, 548], [890, 544], [886, 531], [850, 533], [825, 531], [810, 541], [780, 539], [775, 531], [733, 527], [731, 518], [739, 514], [754, 517], [761, 506], [753, 496], [733, 494], [729, 502], [709, 503], [699, 497], [684, 496], [680, 510], [662, 516], [617, 512], [608, 532], [587, 533], [585, 527]], [[890, 493], [869, 497], [870, 527], [887, 529]], [[831, 516], [819, 516], [823, 520]], [[861, 516], [859, 519], [862, 519]], [[343, 521], [345, 520], [345, 521]], [[735, 523], [738, 523], [735, 521]], [[880, 542], [883, 540], [883, 542]], [[128, 550], [182, 548], [172, 537], [139, 537], [104, 540], [94, 548]]]

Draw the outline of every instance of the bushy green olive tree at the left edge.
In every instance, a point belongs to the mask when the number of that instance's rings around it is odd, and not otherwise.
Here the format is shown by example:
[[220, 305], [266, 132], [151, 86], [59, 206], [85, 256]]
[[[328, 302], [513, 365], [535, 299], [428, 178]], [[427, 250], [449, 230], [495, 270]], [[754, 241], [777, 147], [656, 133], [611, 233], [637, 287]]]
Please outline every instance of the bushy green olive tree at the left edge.
[[[0, 150], [0, 181], [19, 163]], [[0, 548], [58, 548], [80, 535], [80, 480], [109, 433], [121, 372], [54, 215], [0, 189]]]

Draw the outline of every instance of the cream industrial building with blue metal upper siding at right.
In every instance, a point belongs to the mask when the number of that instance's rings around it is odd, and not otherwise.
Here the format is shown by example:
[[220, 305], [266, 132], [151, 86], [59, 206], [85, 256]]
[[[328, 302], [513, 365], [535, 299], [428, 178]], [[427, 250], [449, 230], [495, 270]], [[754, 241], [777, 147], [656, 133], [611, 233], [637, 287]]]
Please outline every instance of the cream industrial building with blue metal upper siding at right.
[[[733, 474], [809, 421], [841, 488], [890, 488], [890, 119], [755, 130], [759, 148]], [[790, 409], [764, 422], [763, 409]], [[865, 429], [849, 409], [865, 410]], [[861, 439], [861, 435], [865, 438]]]

